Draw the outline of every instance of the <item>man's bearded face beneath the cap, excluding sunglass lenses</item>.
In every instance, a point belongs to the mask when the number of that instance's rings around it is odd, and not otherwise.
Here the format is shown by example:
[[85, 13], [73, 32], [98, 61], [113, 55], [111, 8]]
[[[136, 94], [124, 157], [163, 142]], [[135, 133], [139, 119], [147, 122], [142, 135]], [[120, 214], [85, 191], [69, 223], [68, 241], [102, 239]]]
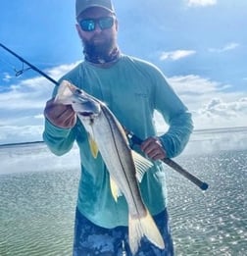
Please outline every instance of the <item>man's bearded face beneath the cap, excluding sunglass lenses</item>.
[[[101, 28], [98, 21], [106, 17], [113, 17], [114, 24], [109, 28]], [[96, 21], [94, 29], [90, 31], [83, 30], [80, 22], [90, 19]], [[103, 8], [92, 7], [85, 10], [77, 20], [76, 29], [82, 40], [86, 54], [92, 57], [104, 58], [104, 56], [107, 56], [116, 48], [118, 24], [112, 13]]]

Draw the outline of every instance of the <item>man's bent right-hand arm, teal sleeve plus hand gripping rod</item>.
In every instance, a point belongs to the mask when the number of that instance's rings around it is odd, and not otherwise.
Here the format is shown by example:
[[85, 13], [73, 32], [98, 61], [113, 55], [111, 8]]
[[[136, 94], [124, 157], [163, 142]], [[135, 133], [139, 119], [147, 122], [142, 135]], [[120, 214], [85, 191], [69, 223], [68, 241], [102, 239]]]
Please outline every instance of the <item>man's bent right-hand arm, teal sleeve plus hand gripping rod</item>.
[[154, 160], [173, 158], [186, 146], [193, 130], [191, 114], [158, 70], [153, 76], [153, 104], [169, 125], [169, 130], [159, 137], [149, 137], [141, 149]]

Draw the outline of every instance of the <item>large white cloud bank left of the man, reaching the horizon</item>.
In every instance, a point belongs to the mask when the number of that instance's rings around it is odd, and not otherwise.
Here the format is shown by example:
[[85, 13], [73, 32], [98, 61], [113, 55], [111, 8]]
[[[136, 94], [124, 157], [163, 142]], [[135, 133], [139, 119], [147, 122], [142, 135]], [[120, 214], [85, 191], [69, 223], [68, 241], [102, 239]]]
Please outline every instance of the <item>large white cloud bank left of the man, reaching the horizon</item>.
[[[46, 71], [55, 80], [77, 63]], [[0, 88], [6, 88], [0, 84]], [[12, 83], [0, 92], [0, 144], [42, 139], [43, 109], [54, 84], [45, 77], [32, 77]]]

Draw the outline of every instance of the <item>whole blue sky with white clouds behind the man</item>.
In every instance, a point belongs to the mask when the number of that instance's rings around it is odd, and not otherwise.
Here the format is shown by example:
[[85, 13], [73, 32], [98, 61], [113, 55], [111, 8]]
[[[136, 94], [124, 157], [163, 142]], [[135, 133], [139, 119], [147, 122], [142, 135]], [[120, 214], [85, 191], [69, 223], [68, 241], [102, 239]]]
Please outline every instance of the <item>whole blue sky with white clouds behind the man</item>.
[[[246, 0], [113, 3], [122, 52], [164, 72], [195, 130], [247, 127]], [[0, 43], [48, 76], [57, 80], [83, 59], [74, 1], [2, 0], [0, 7]], [[27, 68], [0, 47], [0, 144], [42, 140], [54, 84]], [[157, 126], [164, 130], [160, 116]]]

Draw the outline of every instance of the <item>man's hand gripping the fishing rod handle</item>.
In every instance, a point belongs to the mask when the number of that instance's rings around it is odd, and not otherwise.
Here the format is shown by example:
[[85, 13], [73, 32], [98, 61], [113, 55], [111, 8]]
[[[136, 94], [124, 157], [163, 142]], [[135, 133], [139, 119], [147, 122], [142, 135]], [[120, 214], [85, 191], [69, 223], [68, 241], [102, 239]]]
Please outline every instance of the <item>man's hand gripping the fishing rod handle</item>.
[[141, 150], [153, 160], [162, 160], [167, 157], [159, 137], [149, 137], [141, 143]]

